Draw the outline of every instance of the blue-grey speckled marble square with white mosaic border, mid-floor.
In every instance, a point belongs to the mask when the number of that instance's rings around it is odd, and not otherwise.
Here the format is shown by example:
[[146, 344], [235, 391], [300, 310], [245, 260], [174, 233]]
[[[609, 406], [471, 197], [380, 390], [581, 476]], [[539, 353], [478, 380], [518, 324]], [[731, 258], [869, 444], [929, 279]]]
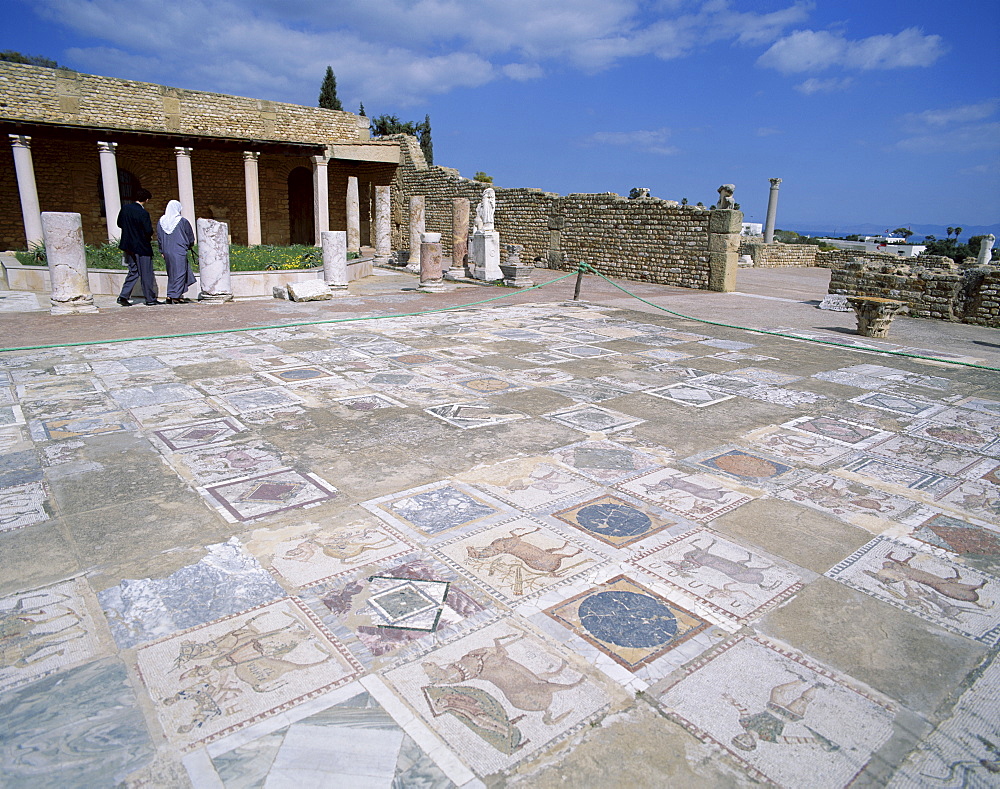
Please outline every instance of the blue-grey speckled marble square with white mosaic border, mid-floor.
[[364, 502], [362, 506], [390, 524], [433, 536], [508, 515], [501, 502], [467, 485], [438, 482]]

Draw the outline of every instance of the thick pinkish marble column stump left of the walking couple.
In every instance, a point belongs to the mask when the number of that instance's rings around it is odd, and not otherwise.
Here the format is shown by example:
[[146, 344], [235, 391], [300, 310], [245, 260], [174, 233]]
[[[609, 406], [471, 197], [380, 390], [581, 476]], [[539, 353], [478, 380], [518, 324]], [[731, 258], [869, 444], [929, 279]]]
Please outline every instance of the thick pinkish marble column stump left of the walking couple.
[[87, 256], [83, 251], [83, 222], [79, 214], [44, 211], [42, 238], [52, 282], [53, 315], [97, 312], [87, 279]]

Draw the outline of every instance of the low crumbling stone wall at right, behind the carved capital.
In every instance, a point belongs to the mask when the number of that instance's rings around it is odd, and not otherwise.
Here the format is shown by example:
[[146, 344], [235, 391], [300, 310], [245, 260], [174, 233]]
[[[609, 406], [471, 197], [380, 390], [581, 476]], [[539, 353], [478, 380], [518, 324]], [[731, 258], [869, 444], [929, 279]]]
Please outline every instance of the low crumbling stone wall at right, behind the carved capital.
[[933, 255], [891, 261], [834, 268], [830, 293], [897, 299], [913, 317], [1000, 327], [1000, 266], [959, 266]]

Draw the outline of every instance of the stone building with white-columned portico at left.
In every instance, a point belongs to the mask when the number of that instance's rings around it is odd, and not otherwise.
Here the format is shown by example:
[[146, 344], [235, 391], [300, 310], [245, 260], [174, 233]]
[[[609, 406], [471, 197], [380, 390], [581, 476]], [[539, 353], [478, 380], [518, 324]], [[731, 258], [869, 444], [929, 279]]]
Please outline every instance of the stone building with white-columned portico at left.
[[0, 130], [0, 249], [40, 241], [41, 211], [79, 213], [87, 243], [103, 243], [139, 187], [154, 222], [179, 199], [192, 224], [227, 222], [234, 243], [313, 244], [346, 229], [350, 176], [367, 241], [369, 195], [400, 158], [350, 112], [20, 63], [0, 62]]

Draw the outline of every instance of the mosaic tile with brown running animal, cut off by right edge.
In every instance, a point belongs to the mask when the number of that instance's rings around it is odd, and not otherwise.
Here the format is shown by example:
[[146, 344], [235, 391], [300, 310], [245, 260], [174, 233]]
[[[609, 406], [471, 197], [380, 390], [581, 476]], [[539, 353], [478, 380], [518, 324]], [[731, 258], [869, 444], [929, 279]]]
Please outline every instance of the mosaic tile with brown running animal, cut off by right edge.
[[954, 633], [1000, 641], [1000, 580], [876, 537], [826, 575]]

